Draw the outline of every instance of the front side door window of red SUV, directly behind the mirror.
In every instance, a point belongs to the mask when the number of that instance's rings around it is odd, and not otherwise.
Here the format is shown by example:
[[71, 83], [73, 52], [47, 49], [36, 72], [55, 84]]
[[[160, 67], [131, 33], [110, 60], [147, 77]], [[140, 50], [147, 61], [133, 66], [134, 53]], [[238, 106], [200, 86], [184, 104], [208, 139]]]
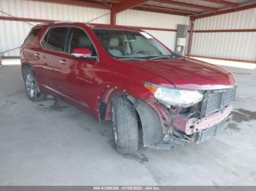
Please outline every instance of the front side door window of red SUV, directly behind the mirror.
[[91, 50], [91, 55], [97, 55], [91, 39], [82, 29], [70, 28], [67, 39], [66, 52], [69, 54], [71, 54], [75, 48], [87, 48]]

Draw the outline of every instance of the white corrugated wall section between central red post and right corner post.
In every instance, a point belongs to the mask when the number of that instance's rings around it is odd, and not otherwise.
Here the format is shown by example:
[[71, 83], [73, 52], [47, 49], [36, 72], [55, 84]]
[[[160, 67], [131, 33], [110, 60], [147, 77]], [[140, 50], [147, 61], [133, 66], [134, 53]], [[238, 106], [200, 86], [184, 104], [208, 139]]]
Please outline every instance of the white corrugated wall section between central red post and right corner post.
[[[178, 24], [189, 25], [189, 17], [129, 9], [127, 11], [118, 13], [116, 23], [123, 26], [176, 29]], [[176, 32], [152, 30], [146, 31], [163, 42], [171, 50], [174, 50], [176, 44]]]

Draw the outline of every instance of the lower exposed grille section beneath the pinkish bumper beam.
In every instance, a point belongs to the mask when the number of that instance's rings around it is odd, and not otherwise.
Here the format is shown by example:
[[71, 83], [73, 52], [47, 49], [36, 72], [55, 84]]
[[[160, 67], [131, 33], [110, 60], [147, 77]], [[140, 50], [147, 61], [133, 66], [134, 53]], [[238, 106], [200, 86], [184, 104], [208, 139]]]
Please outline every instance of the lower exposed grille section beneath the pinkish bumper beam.
[[216, 136], [219, 132], [226, 129], [228, 127], [229, 118], [223, 120], [218, 125], [214, 125], [211, 128], [207, 128], [205, 130], [200, 131], [200, 133], [197, 133], [196, 142], [197, 144], [206, 141], [208, 139], [211, 139], [212, 136]]

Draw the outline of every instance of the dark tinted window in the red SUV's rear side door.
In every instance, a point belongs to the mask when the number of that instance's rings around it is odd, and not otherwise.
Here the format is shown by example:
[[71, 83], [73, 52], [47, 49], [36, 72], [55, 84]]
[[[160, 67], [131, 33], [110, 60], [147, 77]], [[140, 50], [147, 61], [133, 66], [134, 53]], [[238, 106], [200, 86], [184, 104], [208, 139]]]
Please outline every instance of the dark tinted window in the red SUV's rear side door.
[[45, 48], [64, 52], [67, 31], [68, 28], [66, 27], [51, 28]]

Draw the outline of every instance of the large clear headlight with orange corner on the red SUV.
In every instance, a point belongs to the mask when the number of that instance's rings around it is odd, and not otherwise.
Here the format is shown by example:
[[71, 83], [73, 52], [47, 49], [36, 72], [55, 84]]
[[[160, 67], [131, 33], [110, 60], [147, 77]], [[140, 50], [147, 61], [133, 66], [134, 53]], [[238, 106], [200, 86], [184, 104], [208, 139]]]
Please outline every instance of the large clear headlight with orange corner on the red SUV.
[[189, 107], [203, 100], [203, 94], [197, 90], [181, 90], [162, 87], [145, 82], [144, 86], [154, 93], [154, 97], [166, 106]]

